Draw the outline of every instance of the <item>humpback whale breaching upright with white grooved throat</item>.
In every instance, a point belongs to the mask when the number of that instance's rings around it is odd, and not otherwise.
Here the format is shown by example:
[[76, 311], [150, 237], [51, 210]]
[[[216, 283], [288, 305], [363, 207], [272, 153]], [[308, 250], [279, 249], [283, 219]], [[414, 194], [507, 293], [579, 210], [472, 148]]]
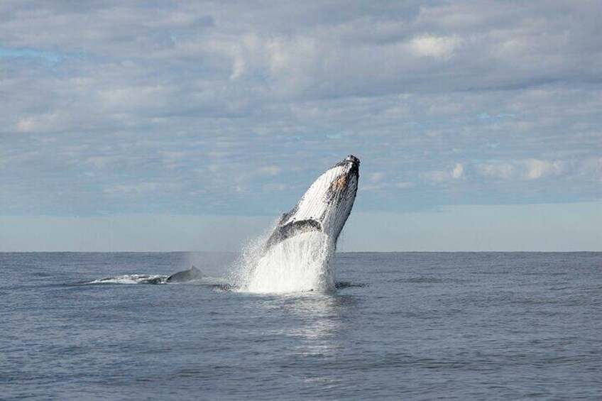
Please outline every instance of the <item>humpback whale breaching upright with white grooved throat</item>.
[[266, 241], [265, 250], [297, 234], [320, 231], [336, 240], [354, 207], [359, 180], [359, 159], [349, 155], [330, 167], [283, 214]]

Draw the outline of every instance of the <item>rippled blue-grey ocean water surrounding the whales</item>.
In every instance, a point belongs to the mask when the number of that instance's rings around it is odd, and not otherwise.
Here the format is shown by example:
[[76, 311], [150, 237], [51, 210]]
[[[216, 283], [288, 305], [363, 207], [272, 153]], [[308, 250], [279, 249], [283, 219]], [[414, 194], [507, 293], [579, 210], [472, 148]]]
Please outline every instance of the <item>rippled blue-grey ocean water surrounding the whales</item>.
[[0, 399], [602, 399], [602, 253], [338, 253], [280, 295], [234, 258], [0, 253]]

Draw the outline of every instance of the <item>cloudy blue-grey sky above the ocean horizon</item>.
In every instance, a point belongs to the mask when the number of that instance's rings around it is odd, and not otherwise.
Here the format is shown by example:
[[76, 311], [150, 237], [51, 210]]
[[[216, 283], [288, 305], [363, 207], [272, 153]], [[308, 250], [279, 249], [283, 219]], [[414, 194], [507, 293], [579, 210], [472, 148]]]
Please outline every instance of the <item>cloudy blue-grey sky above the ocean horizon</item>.
[[0, 251], [602, 251], [599, 1], [0, 3]]

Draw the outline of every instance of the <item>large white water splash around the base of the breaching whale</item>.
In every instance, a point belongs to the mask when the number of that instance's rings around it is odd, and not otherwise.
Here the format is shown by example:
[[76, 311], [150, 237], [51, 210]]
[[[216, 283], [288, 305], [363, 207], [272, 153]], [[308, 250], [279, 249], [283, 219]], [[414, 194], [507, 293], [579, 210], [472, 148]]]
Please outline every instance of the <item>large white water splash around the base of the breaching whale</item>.
[[263, 252], [265, 238], [243, 249], [237, 278], [242, 291], [304, 292], [334, 289], [334, 244], [317, 231], [298, 234]]

